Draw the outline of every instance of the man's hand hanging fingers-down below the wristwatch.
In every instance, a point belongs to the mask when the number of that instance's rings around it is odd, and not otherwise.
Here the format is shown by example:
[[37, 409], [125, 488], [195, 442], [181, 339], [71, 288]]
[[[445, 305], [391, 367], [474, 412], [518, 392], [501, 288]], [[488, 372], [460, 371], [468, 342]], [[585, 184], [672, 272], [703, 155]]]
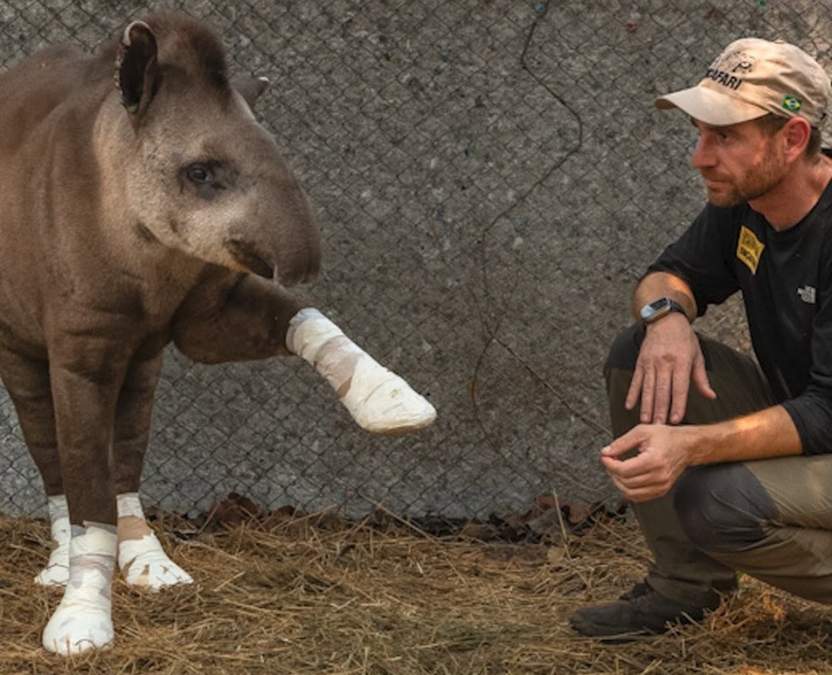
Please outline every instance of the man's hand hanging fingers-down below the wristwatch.
[[626, 409], [632, 410], [641, 397], [642, 423], [678, 424], [685, 416], [691, 381], [702, 396], [716, 398], [699, 339], [687, 318], [671, 313], [648, 324], [627, 392]]

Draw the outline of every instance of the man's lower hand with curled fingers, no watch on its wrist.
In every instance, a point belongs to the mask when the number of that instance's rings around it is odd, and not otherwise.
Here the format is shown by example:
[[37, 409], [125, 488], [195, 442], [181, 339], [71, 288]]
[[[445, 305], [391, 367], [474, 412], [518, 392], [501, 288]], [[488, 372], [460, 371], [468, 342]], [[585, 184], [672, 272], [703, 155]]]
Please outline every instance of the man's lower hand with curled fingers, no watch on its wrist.
[[[628, 500], [647, 501], [665, 495], [690, 463], [688, 448], [695, 427], [641, 424], [601, 451], [613, 484]], [[636, 455], [624, 458], [636, 451]]]

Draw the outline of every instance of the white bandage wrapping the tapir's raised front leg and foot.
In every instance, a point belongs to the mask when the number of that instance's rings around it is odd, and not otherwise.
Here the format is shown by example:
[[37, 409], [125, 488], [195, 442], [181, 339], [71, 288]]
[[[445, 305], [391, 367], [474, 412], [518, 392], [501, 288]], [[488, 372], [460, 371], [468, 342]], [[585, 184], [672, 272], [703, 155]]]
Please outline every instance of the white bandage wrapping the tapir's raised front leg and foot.
[[286, 347], [309, 362], [338, 392], [359, 426], [398, 434], [429, 426], [436, 409], [394, 372], [375, 361], [317, 309], [295, 314]]

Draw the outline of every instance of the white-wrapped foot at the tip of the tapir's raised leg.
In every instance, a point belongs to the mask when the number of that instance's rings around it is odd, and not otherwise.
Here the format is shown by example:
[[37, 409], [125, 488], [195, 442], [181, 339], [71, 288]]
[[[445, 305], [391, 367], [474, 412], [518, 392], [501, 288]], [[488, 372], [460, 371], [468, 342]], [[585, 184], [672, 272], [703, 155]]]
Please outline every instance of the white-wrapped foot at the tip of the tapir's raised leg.
[[436, 408], [425, 397], [369, 357], [356, 364], [341, 402], [361, 428], [375, 434], [418, 431], [436, 419]]

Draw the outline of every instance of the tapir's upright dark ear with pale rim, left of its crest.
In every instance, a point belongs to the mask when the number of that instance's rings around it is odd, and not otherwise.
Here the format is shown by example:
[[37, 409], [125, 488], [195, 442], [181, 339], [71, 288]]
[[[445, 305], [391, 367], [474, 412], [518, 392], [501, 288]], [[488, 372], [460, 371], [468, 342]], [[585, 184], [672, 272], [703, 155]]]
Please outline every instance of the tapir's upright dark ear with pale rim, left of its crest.
[[156, 36], [145, 22], [134, 21], [124, 29], [116, 60], [116, 85], [127, 112], [141, 115], [156, 93], [158, 81]]

